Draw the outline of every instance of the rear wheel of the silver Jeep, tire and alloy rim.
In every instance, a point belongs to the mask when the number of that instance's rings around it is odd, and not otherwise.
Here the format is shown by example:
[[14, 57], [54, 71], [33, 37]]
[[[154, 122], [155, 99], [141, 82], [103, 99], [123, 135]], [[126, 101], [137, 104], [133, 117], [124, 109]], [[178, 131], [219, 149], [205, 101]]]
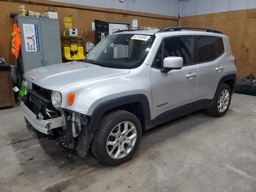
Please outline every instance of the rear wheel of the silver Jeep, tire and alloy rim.
[[[227, 94], [225, 94], [225, 91], [227, 91], [228, 96]], [[224, 97], [221, 100], [220, 97], [222, 97], [223, 95]], [[218, 86], [217, 91], [215, 93], [214, 102], [210, 107], [206, 109], [206, 112], [215, 117], [223, 116], [228, 111], [228, 108], [231, 102], [231, 97], [232, 97], [232, 92], [231, 92], [230, 86], [228, 84], [220, 84], [220, 86]]]

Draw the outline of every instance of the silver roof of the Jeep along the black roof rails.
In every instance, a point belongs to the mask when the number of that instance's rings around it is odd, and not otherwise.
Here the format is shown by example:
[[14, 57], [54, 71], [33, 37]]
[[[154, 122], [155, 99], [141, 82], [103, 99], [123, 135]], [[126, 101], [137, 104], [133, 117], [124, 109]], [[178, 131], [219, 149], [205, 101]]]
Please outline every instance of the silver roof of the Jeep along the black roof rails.
[[[154, 34], [163, 34], [163, 37], [166, 36], [179, 36], [179, 35], [204, 35], [204, 36], [217, 36], [223, 37], [223, 34], [215, 32], [204, 32], [204, 31], [192, 31], [192, 30], [179, 30], [179, 31], [166, 31], [158, 32], [159, 30], [130, 30], [130, 31], [121, 31], [114, 32], [112, 34], [141, 34], [141, 35], [154, 35]], [[110, 35], [112, 35], [110, 34]]]

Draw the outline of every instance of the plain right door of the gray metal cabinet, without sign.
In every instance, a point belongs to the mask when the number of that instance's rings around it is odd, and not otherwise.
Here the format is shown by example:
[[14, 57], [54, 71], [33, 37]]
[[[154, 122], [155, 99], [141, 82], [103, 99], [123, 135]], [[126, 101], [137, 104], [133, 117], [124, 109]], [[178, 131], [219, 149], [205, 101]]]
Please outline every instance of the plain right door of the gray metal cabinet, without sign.
[[44, 66], [62, 63], [60, 25], [58, 19], [40, 19]]

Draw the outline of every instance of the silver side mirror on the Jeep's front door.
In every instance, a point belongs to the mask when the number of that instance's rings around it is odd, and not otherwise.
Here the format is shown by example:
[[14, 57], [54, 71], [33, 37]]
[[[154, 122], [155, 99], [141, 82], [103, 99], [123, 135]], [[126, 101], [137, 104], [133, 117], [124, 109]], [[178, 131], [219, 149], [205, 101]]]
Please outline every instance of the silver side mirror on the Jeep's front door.
[[167, 73], [173, 69], [181, 69], [183, 65], [182, 57], [166, 57], [163, 61], [163, 68], [161, 72]]

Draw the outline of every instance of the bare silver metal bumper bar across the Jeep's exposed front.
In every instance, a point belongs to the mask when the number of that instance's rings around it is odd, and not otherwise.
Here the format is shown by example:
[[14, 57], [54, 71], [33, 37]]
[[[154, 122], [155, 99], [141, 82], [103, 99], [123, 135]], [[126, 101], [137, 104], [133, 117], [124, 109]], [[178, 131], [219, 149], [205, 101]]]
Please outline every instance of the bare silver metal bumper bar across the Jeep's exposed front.
[[51, 129], [65, 126], [65, 119], [62, 116], [43, 120], [37, 118], [36, 115], [24, 104], [24, 102], [21, 102], [20, 106], [22, 114], [26, 120], [31, 124], [32, 127], [41, 133], [49, 135]]

